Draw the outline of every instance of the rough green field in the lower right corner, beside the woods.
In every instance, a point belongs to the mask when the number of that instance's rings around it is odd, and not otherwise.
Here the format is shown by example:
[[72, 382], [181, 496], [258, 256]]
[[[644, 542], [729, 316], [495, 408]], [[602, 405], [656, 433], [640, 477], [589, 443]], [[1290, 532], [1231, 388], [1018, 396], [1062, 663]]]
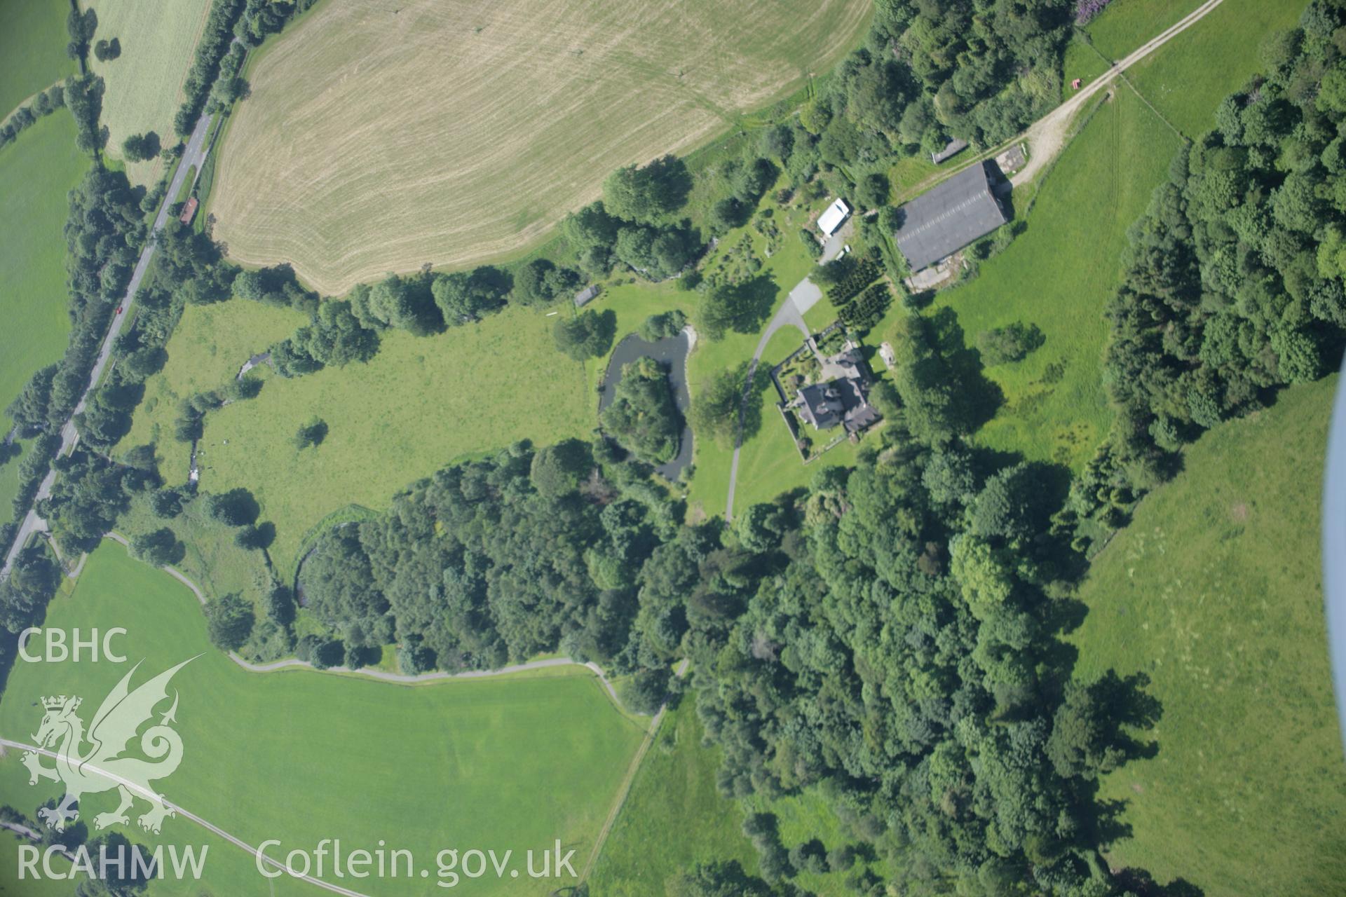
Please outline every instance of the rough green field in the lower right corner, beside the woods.
[[1109, 776], [1110, 861], [1206, 897], [1341, 894], [1346, 765], [1329, 678], [1319, 490], [1338, 378], [1222, 424], [1093, 562], [1077, 676], [1145, 672], [1159, 753]]

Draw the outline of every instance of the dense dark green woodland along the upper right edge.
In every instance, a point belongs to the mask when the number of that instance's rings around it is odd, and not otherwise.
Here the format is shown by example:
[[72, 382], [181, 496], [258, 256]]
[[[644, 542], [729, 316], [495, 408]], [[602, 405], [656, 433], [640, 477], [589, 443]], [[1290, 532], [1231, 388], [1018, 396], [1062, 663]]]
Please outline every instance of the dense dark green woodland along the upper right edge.
[[1082, 539], [1121, 523], [1183, 444], [1339, 363], [1343, 26], [1346, 4], [1314, 0], [1299, 27], [1268, 35], [1265, 74], [1221, 102], [1132, 227], [1109, 305], [1117, 418], [1070, 502]]

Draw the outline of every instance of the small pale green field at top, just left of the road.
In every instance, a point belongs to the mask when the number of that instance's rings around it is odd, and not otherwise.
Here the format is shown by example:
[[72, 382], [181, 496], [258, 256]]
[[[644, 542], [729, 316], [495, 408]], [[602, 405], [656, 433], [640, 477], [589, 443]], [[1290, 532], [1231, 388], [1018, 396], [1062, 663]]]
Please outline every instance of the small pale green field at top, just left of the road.
[[[121, 55], [89, 65], [102, 77], [102, 124], [108, 125], [108, 155], [121, 160], [121, 143], [131, 134], [153, 130], [164, 147], [178, 141], [172, 117], [182, 104], [182, 82], [191, 67], [197, 39], [206, 24], [210, 0], [92, 0], [98, 13], [94, 40], [121, 42]], [[136, 184], [152, 184], [163, 161], [127, 163]]]

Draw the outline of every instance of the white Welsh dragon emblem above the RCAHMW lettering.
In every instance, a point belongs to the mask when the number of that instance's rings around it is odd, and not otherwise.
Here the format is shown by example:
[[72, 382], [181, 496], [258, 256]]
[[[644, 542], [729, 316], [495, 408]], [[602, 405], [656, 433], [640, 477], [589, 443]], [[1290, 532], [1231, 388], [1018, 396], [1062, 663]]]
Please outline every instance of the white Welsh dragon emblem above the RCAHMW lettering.
[[[42, 699], [46, 713], [32, 741], [46, 756], [54, 756], [57, 765], [43, 767], [43, 753], [38, 750], [24, 752], [23, 765], [28, 768], [30, 785], [38, 784], [42, 779], [63, 781], [66, 785], [65, 797], [54, 808], [43, 807], [38, 811], [38, 818], [48, 828], [65, 831], [67, 822], [78, 819], [77, 807], [83, 795], [116, 788], [121, 803], [114, 811], [94, 816], [94, 828], [106, 828], [117, 823], [129, 824], [127, 811], [132, 808], [135, 799], [140, 797], [149, 803], [149, 810], [137, 819], [140, 827], [159, 834], [164, 816], [172, 816], [175, 812], [164, 806], [163, 795], [156, 793], [149, 783], [172, 775], [182, 763], [182, 738], [168, 725], [176, 722], [176, 691], [172, 706], [159, 717], [156, 725], [140, 736], [140, 752], [149, 760], [124, 754], [141, 724], [153, 717], [155, 707], [160, 702], [168, 699], [168, 680], [195, 659], [183, 660], [131, 691], [131, 676], [140, 668], [137, 663], [104, 698], [87, 732], [83, 721], [75, 714], [81, 698], [61, 695]], [[85, 744], [90, 746], [83, 749]]]

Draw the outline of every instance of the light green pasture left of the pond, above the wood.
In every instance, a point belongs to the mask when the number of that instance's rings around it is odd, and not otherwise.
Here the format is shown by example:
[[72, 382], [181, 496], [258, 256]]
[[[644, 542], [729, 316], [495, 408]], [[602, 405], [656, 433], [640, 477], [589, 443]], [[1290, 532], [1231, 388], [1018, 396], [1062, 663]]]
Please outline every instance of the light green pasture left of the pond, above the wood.
[[[227, 303], [211, 331], [234, 327], [237, 313], [254, 312]], [[509, 308], [439, 336], [390, 331], [367, 364], [268, 377], [257, 398], [207, 414], [201, 488], [250, 490], [261, 518], [276, 524], [272, 557], [288, 573], [304, 533], [331, 511], [386, 507], [404, 485], [466, 453], [521, 438], [587, 438], [595, 405], [583, 367], [556, 351], [552, 323], [541, 311]], [[207, 339], [179, 332], [187, 344]], [[237, 370], [271, 342], [257, 339], [221, 368]], [[300, 452], [295, 430], [314, 416], [327, 422], [327, 438]]]

